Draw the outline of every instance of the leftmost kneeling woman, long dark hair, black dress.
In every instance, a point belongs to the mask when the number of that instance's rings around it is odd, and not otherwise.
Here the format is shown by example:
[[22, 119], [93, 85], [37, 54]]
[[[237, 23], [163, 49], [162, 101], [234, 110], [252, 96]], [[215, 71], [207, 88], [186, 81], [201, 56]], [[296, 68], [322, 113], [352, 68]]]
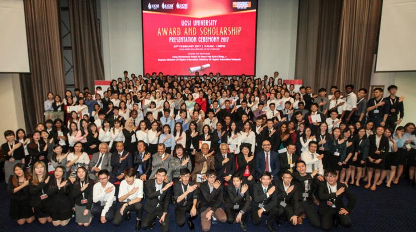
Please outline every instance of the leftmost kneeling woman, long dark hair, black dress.
[[10, 217], [19, 225], [32, 223], [35, 220], [30, 206], [29, 180], [24, 163], [14, 166], [14, 175], [9, 178], [8, 192], [10, 194]]

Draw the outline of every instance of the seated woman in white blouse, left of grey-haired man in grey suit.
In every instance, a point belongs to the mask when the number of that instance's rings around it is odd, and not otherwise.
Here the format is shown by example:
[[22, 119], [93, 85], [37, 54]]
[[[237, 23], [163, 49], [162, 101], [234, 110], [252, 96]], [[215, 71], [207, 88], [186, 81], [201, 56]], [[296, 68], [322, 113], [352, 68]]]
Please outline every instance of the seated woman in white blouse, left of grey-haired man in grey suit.
[[90, 158], [88, 154], [82, 152], [82, 143], [76, 142], [74, 144], [74, 152], [70, 152], [67, 156], [67, 167], [72, 168], [72, 172], [68, 178], [71, 183], [74, 183], [75, 178], [77, 176], [77, 169], [78, 167], [85, 167], [88, 169], [88, 163], [90, 162]]

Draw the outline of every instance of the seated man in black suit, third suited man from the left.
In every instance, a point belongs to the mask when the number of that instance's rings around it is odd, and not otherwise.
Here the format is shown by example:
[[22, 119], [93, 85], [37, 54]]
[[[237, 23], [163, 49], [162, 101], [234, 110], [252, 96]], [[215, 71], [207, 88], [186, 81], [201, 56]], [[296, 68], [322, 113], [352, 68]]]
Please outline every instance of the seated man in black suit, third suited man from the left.
[[136, 170], [136, 178], [140, 178], [144, 182], [147, 181], [152, 171], [152, 154], [146, 151], [146, 143], [143, 140], [137, 143], [133, 164]]

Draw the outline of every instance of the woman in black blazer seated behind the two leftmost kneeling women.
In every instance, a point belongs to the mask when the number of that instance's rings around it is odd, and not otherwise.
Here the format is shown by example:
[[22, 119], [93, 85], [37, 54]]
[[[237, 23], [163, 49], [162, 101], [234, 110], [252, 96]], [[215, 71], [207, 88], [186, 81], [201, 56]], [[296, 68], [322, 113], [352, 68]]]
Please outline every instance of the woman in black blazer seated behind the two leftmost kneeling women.
[[[35, 131], [32, 134], [32, 139], [30, 140], [29, 145], [27, 146], [27, 151], [29, 152], [30, 158], [32, 159], [30, 165], [33, 166], [37, 161], [42, 161], [47, 167], [47, 153], [48, 146], [45, 141], [40, 137], [40, 132]], [[45, 167], [45, 168], [46, 168]], [[45, 169], [47, 172], [47, 168]]]

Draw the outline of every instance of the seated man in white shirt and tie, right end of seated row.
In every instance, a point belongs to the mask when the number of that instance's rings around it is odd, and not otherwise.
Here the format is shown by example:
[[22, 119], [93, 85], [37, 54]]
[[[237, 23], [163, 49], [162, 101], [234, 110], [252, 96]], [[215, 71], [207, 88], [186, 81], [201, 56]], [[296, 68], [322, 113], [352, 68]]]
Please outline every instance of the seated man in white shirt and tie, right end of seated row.
[[316, 153], [316, 149], [318, 148], [318, 142], [311, 141], [308, 145], [308, 150], [302, 152], [301, 159], [306, 163], [306, 172], [313, 172], [314, 170], [318, 169], [320, 177], [320, 181], [323, 181], [324, 175], [324, 166], [322, 165], [322, 158], [324, 155], [319, 155]]

